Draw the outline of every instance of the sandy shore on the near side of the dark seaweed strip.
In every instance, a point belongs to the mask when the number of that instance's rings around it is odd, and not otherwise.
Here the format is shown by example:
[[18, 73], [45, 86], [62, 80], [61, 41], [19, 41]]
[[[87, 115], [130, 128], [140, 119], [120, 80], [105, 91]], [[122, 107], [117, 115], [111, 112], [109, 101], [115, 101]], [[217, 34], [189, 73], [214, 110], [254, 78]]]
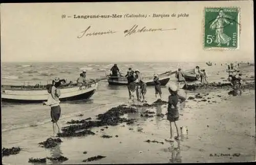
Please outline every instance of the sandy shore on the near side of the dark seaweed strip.
[[[197, 92], [202, 96], [205, 94], [202, 91]], [[30, 157], [60, 155], [68, 157], [69, 160], [64, 163], [69, 164], [255, 161], [254, 91], [245, 90], [239, 97], [227, 95], [223, 90], [208, 93], [210, 102], [186, 101], [178, 124], [187, 126], [188, 134], [180, 142], [164, 141], [169, 137], [169, 123], [166, 116], [143, 118], [140, 117], [140, 113], [146, 108], [138, 108], [138, 113], [124, 115], [127, 119], [138, 119], [135, 124], [123, 123], [118, 126], [108, 126], [107, 129], [95, 127], [91, 129], [96, 133], [95, 135], [61, 137], [63, 143], [53, 149], [38, 147], [37, 143], [47, 139], [47, 136], [44, 136], [39, 142], [29, 141], [29, 146], [34, 146], [29, 152], [21, 151], [17, 155], [5, 156], [3, 161], [15, 164], [15, 160], [26, 164]], [[188, 96], [194, 96], [194, 93], [189, 93]], [[162, 114], [167, 111], [166, 105], [147, 110]], [[100, 130], [102, 128], [103, 131]], [[100, 137], [103, 134], [113, 137], [103, 139]], [[144, 142], [146, 140], [156, 140], [164, 144]], [[83, 154], [84, 151], [88, 153]], [[232, 156], [234, 153], [241, 155]], [[210, 156], [211, 154], [213, 156]], [[82, 162], [83, 159], [96, 155], [106, 157], [97, 161]], [[47, 161], [47, 163], [52, 162]]]

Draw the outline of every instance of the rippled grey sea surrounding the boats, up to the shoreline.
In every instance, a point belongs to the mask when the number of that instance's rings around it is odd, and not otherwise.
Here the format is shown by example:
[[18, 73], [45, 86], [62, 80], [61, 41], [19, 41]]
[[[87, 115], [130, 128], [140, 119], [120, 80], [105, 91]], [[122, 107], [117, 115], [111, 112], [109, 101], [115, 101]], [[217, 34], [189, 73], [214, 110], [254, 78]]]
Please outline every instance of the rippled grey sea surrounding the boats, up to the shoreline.
[[[154, 73], [194, 69], [199, 66], [205, 69], [209, 81], [219, 82], [227, 78], [227, 63], [212, 63], [207, 66], [205, 62], [146, 62], [146, 63], [118, 63], [120, 71], [125, 74], [127, 68], [138, 69], [143, 76], [153, 76]], [[113, 63], [1, 63], [2, 85], [36, 85], [48, 84], [54, 77], [75, 81], [83, 69], [87, 70], [87, 77], [91, 79], [105, 77], [110, 73]], [[254, 76], [254, 70], [251, 71]], [[169, 83], [176, 83], [173, 75]], [[154, 87], [147, 87], [146, 98], [155, 99]], [[166, 87], [163, 87], [166, 88]], [[167, 88], [163, 89], [167, 98]], [[83, 117], [93, 117], [108, 111], [111, 107], [127, 102], [129, 93], [125, 86], [109, 86], [107, 80], [101, 80], [95, 94], [89, 100], [61, 102], [60, 125], [66, 121]], [[2, 102], [2, 145], [12, 147], [20, 141], [38, 139], [46, 134], [52, 134], [50, 107], [40, 103], [14, 104]], [[65, 121], [65, 122], [64, 122]], [[39, 128], [40, 127], [40, 128]], [[23, 143], [23, 144], [24, 144]]]

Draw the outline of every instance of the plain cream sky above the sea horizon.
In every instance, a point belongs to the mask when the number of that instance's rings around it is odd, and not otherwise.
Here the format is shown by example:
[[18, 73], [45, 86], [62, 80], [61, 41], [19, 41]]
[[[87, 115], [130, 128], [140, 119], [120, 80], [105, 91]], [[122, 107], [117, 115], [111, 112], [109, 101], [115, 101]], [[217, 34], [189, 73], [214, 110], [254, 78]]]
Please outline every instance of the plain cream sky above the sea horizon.
[[[241, 9], [239, 49], [203, 49], [204, 8], [230, 6]], [[188, 16], [171, 17], [173, 13]], [[74, 18], [103, 14], [122, 18]], [[124, 30], [135, 24], [138, 29], [176, 30], [125, 37]], [[77, 38], [89, 26], [86, 33], [116, 33]], [[253, 30], [252, 1], [1, 4], [1, 62], [249, 61], [254, 60]]]

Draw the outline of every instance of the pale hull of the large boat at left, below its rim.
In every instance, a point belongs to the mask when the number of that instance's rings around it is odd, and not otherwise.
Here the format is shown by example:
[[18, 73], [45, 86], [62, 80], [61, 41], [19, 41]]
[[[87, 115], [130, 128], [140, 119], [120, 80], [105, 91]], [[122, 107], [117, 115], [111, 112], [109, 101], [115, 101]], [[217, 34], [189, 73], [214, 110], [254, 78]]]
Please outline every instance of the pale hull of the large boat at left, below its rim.
[[[90, 86], [76, 86], [60, 89], [60, 101], [86, 100], [92, 97], [98, 86], [98, 82]], [[47, 101], [47, 90], [12, 90], [2, 89], [3, 102], [38, 103]]]

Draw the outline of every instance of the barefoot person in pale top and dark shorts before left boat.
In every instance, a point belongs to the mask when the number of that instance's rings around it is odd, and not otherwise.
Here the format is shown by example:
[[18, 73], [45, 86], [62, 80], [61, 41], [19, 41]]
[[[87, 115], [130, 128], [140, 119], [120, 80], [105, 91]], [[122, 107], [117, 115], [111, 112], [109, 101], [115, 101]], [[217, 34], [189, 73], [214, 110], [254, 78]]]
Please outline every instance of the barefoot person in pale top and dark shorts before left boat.
[[60, 80], [59, 78], [55, 78], [53, 80], [53, 85], [48, 84], [47, 85], [47, 91], [49, 93], [48, 100], [45, 102], [42, 102], [43, 105], [49, 105], [51, 106], [51, 118], [53, 123], [53, 134], [55, 133], [54, 130], [54, 123], [58, 127], [59, 132], [59, 126], [57, 124], [57, 121], [59, 120], [60, 114], [61, 114], [61, 108], [59, 106], [59, 97], [60, 97], [60, 90], [57, 89], [60, 86]]

